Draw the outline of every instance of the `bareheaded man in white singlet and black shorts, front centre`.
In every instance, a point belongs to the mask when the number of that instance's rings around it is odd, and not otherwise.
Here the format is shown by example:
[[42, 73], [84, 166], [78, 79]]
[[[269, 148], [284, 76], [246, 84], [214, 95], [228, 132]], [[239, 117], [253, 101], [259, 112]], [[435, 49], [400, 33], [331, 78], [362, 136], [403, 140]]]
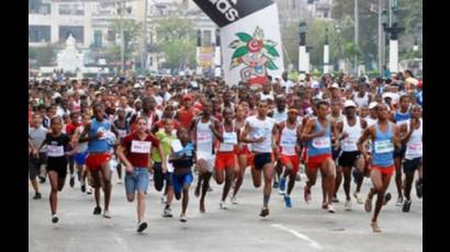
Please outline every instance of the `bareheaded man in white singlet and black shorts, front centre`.
[[[246, 121], [246, 126], [241, 136], [244, 142], [252, 144], [254, 167], [251, 177], [254, 186], [261, 186], [261, 172], [265, 179], [263, 202], [260, 217], [269, 215], [269, 199], [272, 192], [273, 179], [273, 151], [277, 151], [275, 139], [278, 130], [274, 127], [274, 119], [267, 117], [269, 105], [266, 100], [258, 102], [258, 115], [250, 116]], [[247, 135], [250, 134], [250, 137]]]

